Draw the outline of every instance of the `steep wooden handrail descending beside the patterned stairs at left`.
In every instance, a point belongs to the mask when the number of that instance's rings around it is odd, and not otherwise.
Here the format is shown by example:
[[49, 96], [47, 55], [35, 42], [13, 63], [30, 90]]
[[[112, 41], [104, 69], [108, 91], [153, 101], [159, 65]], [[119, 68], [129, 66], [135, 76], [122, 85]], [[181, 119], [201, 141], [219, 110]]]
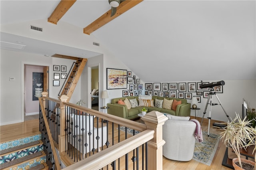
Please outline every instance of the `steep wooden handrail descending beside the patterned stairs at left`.
[[[43, 108], [42, 107], [43, 106], [42, 97], [39, 98], [39, 103], [40, 103], [41, 108]], [[41, 111], [42, 111], [42, 115], [43, 115], [43, 118], [44, 118], [47, 134], [48, 134], [48, 137], [49, 137], [49, 140], [50, 140], [50, 145], [52, 146], [52, 154], [54, 156], [55, 166], [56, 166], [57, 170], [60, 170], [60, 162], [59, 162], [59, 159], [58, 159], [57, 152], [55, 150], [54, 141], [52, 139], [52, 133], [51, 133], [51, 130], [50, 130], [47, 118], [46, 118], [45, 110], [41, 109]]]

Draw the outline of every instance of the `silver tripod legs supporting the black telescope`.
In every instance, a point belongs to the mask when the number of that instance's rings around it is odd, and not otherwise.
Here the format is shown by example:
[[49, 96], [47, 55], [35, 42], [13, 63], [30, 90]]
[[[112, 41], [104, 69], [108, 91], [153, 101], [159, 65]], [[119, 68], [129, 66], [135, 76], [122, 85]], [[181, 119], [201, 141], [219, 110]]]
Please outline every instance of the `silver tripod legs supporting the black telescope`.
[[[208, 95], [208, 99], [207, 99], [205, 108], [204, 108], [204, 114], [203, 114], [203, 117], [202, 117], [202, 121], [201, 121], [201, 125], [202, 125], [203, 120], [204, 120], [204, 115], [206, 114], [207, 106], [210, 105], [210, 108], [209, 108], [209, 117], [208, 117], [208, 119], [209, 119], [209, 121], [208, 121], [208, 136], [209, 136], [209, 134], [210, 134], [210, 120], [211, 120], [211, 115], [212, 115], [212, 106], [218, 105], [217, 103], [212, 103], [212, 96], [213, 96], [213, 95], [215, 95], [215, 97], [217, 98], [217, 100], [218, 100], [219, 103], [220, 103], [220, 99], [219, 99], [218, 96], [216, 95], [216, 92], [211, 88], [211, 89], [210, 89], [210, 93], [209, 93], [209, 95]], [[222, 107], [224, 113], [225, 113], [226, 116], [228, 117], [228, 120], [231, 122], [231, 121], [232, 121], [231, 118], [228, 116], [228, 114], [226, 113], [226, 111], [225, 111], [225, 109], [223, 108], [223, 106], [221, 105], [221, 103], [220, 103], [219, 105]]]

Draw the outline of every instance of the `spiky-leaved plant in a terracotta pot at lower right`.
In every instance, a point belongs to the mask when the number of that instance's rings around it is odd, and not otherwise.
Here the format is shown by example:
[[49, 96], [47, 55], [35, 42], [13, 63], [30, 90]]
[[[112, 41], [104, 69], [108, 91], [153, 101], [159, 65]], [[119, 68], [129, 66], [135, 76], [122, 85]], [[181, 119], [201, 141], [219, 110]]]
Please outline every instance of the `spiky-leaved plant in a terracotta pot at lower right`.
[[[222, 128], [223, 132], [220, 132], [220, 137], [224, 144], [232, 148], [237, 156], [237, 158], [232, 160], [235, 170], [243, 169], [243, 164], [255, 166], [255, 162], [240, 157], [241, 148], [246, 149], [247, 146], [255, 145], [256, 130], [250, 126], [250, 122], [246, 117], [242, 120], [236, 113], [235, 119], [231, 122], [228, 121], [227, 126]], [[236, 162], [238, 162], [238, 165]]]

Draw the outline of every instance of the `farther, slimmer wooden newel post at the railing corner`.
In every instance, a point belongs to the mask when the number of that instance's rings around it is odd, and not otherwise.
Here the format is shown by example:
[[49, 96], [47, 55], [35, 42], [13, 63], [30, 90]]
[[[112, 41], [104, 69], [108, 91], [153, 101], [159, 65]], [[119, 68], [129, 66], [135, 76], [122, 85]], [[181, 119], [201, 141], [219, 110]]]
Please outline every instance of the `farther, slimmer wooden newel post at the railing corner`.
[[68, 96], [61, 95], [60, 99], [60, 135], [59, 137], [59, 152], [65, 151], [65, 105], [62, 102], [66, 102], [68, 100]]

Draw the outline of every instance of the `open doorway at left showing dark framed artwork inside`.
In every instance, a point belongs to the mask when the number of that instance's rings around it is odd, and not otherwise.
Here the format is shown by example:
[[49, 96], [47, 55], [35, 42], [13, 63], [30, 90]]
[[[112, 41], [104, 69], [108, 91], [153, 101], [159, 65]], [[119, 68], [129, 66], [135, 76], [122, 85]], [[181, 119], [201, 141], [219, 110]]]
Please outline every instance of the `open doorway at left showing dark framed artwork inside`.
[[39, 119], [39, 101], [48, 91], [48, 66], [24, 64], [24, 121]]

